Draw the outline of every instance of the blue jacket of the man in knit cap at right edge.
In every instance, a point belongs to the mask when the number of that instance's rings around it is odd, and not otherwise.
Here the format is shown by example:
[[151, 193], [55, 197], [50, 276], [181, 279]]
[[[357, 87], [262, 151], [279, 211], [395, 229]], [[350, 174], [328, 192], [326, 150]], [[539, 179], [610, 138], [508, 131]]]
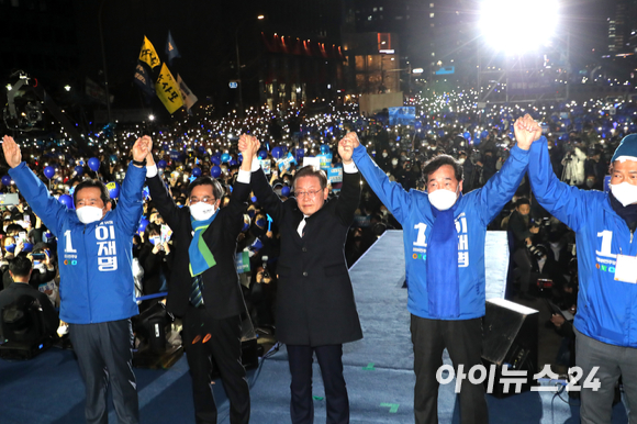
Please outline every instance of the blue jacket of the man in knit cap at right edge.
[[575, 232], [580, 282], [575, 328], [603, 343], [637, 347], [637, 284], [615, 281], [617, 254], [637, 255], [628, 225], [611, 207], [610, 194], [558, 180], [545, 137], [533, 144], [529, 163], [535, 197]]

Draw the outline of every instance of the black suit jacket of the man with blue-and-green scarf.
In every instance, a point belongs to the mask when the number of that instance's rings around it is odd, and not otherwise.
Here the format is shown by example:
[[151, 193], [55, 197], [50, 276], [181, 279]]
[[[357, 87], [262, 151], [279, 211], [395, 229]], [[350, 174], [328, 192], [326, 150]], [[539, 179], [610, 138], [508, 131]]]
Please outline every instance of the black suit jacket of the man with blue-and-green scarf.
[[[178, 208], [159, 176], [148, 178], [150, 197], [164, 221], [172, 230], [172, 270], [168, 279], [166, 308], [177, 316], [183, 316], [192, 291], [190, 257], [188, 248], [192, 241], [190, 209]], [[236, 239], [242, 231], [245, 201], [250, 192], [249, 185], [235, 182], [227, 207], [203, 233], [203, 239], [214, 256], [216, 265], [205, 270], [203, 278], [203, 302], [216, 320], [235, 316], [245, 311], [245, 303], [236, 271]]]

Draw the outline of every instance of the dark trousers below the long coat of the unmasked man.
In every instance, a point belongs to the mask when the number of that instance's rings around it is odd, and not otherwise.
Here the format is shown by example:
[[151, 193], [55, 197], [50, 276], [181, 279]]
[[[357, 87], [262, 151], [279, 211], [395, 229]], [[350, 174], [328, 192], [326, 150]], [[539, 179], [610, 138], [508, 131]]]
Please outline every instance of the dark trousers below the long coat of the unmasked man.
[[343, 345], [316, 347], [288, 345], [288, 361], [292, 375], [290, 384], [292, 424], [314, 423], [312, 353], [316, 353], [321, 366], [327, 404], [327, 424], [349, 423], [349, 399], [343, 377]]

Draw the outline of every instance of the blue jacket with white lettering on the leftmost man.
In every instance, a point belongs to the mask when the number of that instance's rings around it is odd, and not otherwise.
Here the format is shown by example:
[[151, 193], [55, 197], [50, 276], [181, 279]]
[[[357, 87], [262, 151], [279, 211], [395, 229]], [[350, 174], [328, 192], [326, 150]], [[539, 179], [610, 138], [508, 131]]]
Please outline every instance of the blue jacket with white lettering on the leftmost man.
[[58, 238], [59, 319], [90, 324], [138, 314], [132, 246], [142, 216], [146, 168], [128, 166], [118, 208], [88, 225], [78, 220], [76, 211], [53, 198], [25, 163], [9, 174], [29, 205]]

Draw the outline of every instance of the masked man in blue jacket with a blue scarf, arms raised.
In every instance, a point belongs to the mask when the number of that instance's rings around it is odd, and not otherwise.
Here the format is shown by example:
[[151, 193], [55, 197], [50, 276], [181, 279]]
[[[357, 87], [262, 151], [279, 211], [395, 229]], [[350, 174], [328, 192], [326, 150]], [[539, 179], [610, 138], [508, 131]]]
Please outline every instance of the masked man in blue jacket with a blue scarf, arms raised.
[[[440, 155], [423, 167], [427, 192], [390, 182], [356, 134], [349, 133], [354, 160], [382, 203], [403, 226], [407, 309], [414, 346], [414, 414], [418, 424], [438, 422], [438, 381], [445, 347], [457, 368], [481, 364], [484, 315], [484, 238], [487, 226], [511, 200], [528, 165], [530, 142], [511, 156], [487, 185], [462, 196], [462, 166]], [[462, 423], [487, 423], [482, 384], [462, 381]]]

